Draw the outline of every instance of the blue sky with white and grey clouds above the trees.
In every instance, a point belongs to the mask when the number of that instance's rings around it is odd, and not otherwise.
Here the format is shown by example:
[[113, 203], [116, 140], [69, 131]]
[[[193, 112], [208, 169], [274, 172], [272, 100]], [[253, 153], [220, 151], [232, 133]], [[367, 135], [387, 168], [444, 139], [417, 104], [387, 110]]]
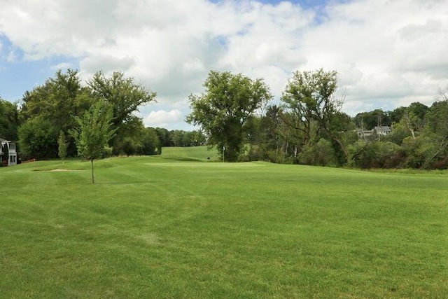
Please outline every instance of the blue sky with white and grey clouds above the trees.
[[[106, 5], [105, 5], [106, 4]], [[421, 102], [448, 85], [448, 0], [0, 0], [0, 97], [55, 75], [123, 71], [157, 92], [146, 126], [193, 130], [188, 95], [209, 71], [264, 78], [338, 72], [342, 111]]]

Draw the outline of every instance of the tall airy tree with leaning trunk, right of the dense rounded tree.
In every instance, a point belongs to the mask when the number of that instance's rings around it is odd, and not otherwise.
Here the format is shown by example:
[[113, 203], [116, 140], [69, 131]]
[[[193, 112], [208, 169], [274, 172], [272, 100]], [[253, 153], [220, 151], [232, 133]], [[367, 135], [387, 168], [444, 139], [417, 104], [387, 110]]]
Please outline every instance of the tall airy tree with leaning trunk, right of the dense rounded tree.
[[283, 120], [295, 131], [300, 150], [326, 138], [335, 149], [339, 164], [346, 161], [345, 146], [339, 137], [339, 133], [350, 126], [350, 118], [339, 111], [345, 95], [343, 91], [337, 96], [336, 71], [295, 71], [281, 100], [292, 116]]

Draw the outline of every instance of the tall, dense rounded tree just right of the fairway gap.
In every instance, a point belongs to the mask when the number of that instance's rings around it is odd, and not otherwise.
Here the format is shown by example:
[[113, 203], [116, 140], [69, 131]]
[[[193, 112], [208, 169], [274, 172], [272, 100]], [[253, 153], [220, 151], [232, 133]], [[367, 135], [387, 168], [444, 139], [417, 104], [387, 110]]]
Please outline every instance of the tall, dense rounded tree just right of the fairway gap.
[[210, 71], [202, 95], [190, 95], [192, 112], [186, 121], [200, 125], [226, 161], [234, 162], [246, 137], [246, 120], [272, 99], [269, 88], [258, 78], [252, 80], [229, 71]]

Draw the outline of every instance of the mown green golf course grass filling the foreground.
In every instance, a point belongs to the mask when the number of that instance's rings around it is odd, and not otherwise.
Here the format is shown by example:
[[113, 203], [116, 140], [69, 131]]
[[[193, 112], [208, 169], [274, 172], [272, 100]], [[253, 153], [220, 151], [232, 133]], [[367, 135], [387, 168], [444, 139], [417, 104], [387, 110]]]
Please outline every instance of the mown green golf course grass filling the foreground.
[[446, 298], [446, 172], [169, 151], [0, 168], [0, 297]]

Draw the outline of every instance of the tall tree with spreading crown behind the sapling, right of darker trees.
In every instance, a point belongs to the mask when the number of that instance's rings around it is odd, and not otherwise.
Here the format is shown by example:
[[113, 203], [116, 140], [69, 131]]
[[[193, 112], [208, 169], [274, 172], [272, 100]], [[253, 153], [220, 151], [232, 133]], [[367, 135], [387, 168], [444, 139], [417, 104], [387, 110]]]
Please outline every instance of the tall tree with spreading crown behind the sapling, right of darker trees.
[[139, 127], [137, 123], [141, 122], [134, 112], [140, 106], [155, 101], [156, 93], [135, 83], [134, 78], [127, 78], [121, 72], [113, 72], [110, 77], [106, 77], [99, 71], [88, 85], [94, 97], [104, 99], [113, 107], [112, 128], [117, 130], [117, 134], [111, 139], [111, 146], [114, 147], [114, 153], [118, 154], [122, 151], [125, 138], [130, 137], [127, 133], [134, 130], [129, 127]]

